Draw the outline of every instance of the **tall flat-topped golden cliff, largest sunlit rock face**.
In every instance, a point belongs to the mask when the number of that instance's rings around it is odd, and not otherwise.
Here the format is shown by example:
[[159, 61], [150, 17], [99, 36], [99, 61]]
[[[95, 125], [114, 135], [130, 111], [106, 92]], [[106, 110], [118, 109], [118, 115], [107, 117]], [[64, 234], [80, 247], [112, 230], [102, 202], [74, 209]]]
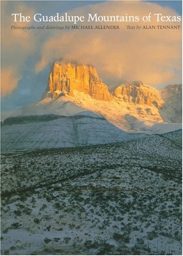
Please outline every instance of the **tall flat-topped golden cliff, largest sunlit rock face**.
[[73, 95], [74, 90], [89, 94], [97, 100], [110, 100], [108, 87], [91, 65], [63, 64], [56, 61], [49, 74], [47, 96]]

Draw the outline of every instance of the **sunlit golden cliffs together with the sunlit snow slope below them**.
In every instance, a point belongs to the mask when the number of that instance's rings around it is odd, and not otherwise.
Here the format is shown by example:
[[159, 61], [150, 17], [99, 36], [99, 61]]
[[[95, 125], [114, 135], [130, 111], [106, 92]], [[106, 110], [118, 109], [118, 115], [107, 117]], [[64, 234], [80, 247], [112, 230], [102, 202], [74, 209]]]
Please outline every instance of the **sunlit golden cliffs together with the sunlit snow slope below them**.
[[[161, 113], [167, 99], [172, 99], [177, 92], [177, 87], [173, 88], [168, 86], [162, 91], [135, 81], [123, 83], [110, 94], [92, 65], [55, 61], [43, 99], [51, 98], [61, 102], [67, 98], [78, 107], [103, 115], [107, 121], [126, 132], [146, 131], [151, 134], [154, 133], [151, 127], [156, 123], [166, 122]], [[164, 96], [167, 94], [165, 92], [169, 92], [168, 97]], [[174, 102], [178, 105], [180, 99]], [[55, 110], [58, 114], [59, 110]], [[176, 117], [177, 113], [169, 109], [164, 112], [169, 116], [168, 122], [180, 122]], [[171, 126], [167, 127], [165, 132], [171, 130]]]

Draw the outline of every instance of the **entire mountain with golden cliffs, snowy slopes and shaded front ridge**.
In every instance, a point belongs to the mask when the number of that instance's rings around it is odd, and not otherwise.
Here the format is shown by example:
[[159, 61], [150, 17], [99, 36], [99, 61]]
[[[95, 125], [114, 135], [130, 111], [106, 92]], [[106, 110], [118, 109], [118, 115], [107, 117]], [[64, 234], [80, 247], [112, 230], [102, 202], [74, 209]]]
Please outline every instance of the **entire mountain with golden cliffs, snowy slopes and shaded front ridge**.
[[[45, 86], [46, 87], [46, 86]], [[181, 85], [113, 91], [92, 65], [55, 61], [42, 99], [2, 112], [2, 153], [89, 146], [181, 129]]]

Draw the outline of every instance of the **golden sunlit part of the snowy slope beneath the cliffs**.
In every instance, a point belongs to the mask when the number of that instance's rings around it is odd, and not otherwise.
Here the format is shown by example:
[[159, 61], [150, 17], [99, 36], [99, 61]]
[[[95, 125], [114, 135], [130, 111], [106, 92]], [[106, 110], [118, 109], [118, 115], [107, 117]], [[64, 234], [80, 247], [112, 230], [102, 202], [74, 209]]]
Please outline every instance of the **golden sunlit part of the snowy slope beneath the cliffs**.
[[[159, 109], [154, 105], [126, 103], [117, 98], [111, 101], [96, 100], [77, 90], [74, 90], [74, 96], [67, 95], [66, 97], [75, 105], [104, 116], [108, 122], [128, 133], [156, 134], [181, 128], [181, 123], [163, 122]], [[57, 100], [61, 101], [62, 97]]]

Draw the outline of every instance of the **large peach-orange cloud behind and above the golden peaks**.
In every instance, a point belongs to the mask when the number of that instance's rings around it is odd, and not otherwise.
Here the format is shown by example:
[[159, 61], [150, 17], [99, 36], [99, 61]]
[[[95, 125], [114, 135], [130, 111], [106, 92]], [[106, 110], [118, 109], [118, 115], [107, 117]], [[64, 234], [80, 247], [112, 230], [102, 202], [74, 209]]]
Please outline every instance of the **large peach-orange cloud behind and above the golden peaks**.
[[[100, 11], [99, 11], [100, 10]], [[169, 8], [147, 2], [118, 1], [86, 6], [71, 13], [144, 16], [149, 13], [177, 15]], [[49, 38], [42, 46], [36, 71], [41, 71], [57, 57], [93, 64], [112, 87], [122, 80], [142, 80], [152, 86], [181, 81], [180, 30], [133, 30], [127, 25], [180, 25], [180, 23], [124, 22], [85, 23], [85, 25], [120, 25], [120, 30], [72, 30]], [[80, 24], [79, 24], [80, 25]], [[83, 24], [82, 24], [83, 25]], [[176, 75], [175, 75], [176, 74]]]

